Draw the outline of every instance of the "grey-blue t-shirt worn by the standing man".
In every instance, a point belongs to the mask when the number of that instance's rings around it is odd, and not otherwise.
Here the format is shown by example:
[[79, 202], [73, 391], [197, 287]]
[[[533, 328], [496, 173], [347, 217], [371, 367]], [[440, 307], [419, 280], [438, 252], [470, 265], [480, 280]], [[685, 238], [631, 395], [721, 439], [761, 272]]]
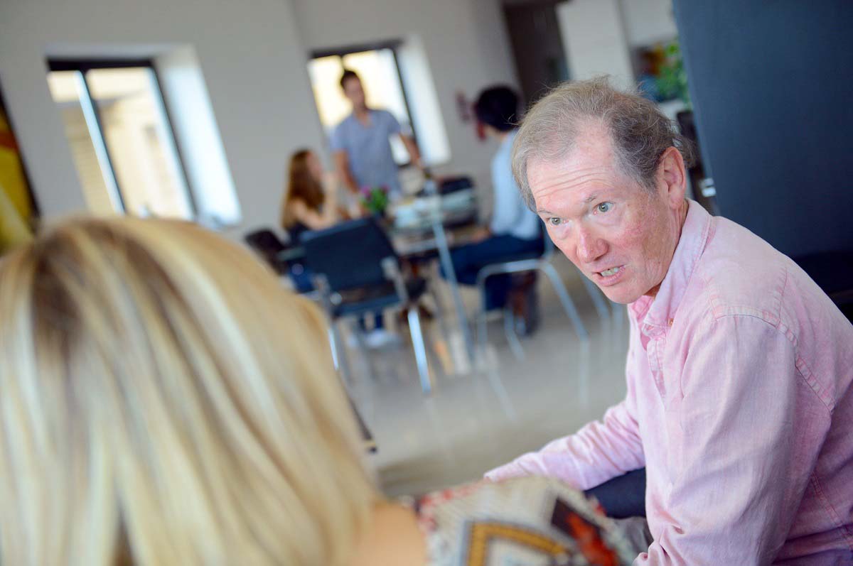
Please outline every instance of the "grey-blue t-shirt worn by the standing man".
[[388, 138], [400, 133], [400, 123], [386, 110], [370, 110], [369, 113], [367, 126], [359, 122], [355, 114], [350, 114], [335, 127], [332, 151], [346, 152], [359, 188], [387, 187], [390, 193], [399, 195], [398, 167]]

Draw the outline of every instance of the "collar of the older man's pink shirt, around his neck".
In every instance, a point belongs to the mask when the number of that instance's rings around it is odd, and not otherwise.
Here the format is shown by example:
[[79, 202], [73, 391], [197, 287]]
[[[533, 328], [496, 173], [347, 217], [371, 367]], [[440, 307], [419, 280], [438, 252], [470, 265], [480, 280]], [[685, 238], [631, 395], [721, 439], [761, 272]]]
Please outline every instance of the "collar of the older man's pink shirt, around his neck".
[[[672, 256], [670, 269], [660, 284], [654, 299], [640, 297], [631, 304], [635, 315], [641, 316], [647, 310], [642, 321], [644, 326], [672, 326], [676, 311], [687, 290], [693, 270], [708, 241], [711, 231], [711, 217], [695, 200], [688, 200], [688, 216], [684, 220], [681, 238], [678, 239], [676, 252]], [[649, 305], [651, 302], [651, 305]]]

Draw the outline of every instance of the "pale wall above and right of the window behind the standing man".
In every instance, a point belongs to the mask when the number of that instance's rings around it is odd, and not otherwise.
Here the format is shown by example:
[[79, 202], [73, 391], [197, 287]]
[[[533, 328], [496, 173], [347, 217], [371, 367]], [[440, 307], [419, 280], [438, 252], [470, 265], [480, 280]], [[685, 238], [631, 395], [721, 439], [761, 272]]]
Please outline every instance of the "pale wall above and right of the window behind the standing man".
[[471, 173], [490, 190], [496, 147], [478, 141], [473, 124], [458, 118], [456, 92], [473, 98], [490, 84], [517, 84], [499, 0], [294, 0], [294, 8], [307, 51], [415, 38], [450, 141], [450, 163], [438, 170]]

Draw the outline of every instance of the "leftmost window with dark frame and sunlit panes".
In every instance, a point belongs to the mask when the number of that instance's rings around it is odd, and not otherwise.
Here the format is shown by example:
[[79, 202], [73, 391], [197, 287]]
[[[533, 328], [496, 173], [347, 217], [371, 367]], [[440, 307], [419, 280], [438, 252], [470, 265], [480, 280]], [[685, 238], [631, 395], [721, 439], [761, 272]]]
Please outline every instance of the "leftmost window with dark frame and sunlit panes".
[[92, 211], [194, 219], [194, 203], [151, 61], [49, 61]]

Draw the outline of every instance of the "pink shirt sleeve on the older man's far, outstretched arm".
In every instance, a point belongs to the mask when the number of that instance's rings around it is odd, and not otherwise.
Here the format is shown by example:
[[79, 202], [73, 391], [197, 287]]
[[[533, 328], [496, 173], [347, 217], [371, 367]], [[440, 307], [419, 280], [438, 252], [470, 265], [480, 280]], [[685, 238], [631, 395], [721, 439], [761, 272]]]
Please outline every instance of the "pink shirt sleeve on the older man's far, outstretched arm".
[[634, 378], [639, 336], [631, 320], [625, 374], [628, 394], [611, 407], [600, 422], [589, 423], [571, 436], [549, 442], [539, 452], [526, 453], [507, 465], [486, 473], [499, 482], [515, 476], [550, 476], [573, 488], [589, 489], [646, 465], [637, 424]]

